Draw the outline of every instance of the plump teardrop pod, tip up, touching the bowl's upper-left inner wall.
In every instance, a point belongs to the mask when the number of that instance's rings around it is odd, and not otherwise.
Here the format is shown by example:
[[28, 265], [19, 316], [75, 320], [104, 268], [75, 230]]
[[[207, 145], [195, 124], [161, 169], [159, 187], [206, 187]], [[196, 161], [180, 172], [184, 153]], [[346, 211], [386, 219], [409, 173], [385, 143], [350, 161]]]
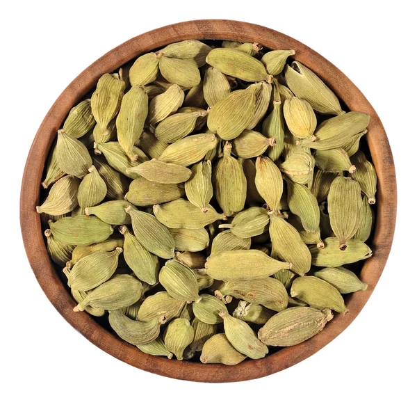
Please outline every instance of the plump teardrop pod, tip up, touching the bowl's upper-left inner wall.
[[87, 175], [88, 168], [92, 166], [87, 147], [76, 138], [68, 136], [63, 130], [58, 130], [56, 160], [60, 170], [78, 178]]

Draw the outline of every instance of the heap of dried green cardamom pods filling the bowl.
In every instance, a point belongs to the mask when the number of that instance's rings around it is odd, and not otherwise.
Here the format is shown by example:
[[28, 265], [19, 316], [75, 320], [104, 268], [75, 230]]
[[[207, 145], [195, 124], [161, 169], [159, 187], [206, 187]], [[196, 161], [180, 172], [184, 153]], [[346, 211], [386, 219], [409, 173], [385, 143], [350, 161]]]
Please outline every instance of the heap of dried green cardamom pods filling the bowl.
[[294, 55], [177, 42], [74, 106], [36, 207], [74, 311], [145, 353], [225, 365], [347, 312], [367, 285], [344, 266], [372, 254], [370, 118]]

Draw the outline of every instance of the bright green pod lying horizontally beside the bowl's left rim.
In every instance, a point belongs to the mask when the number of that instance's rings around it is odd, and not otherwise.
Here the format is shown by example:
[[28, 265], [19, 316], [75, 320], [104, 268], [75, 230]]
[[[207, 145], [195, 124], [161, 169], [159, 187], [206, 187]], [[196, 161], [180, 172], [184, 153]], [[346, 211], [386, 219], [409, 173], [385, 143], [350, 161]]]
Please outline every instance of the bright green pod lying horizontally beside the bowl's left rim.
[[79, 246], [99, 243], [113, 233], [111, 225], [86, 215], [60, 218], [49, 223], [49, 228], [56, 239]]

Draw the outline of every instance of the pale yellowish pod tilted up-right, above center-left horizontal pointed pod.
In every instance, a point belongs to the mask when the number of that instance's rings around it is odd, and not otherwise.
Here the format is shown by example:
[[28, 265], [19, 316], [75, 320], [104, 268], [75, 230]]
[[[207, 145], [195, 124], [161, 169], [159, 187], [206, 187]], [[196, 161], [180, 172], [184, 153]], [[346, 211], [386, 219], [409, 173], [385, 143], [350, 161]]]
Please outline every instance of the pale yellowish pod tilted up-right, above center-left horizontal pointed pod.
[[217, 145], [214, 134], [194, 134], [175, 141], [163, 151], [158, 160], [179, 166], [190, 166], [204, 158]]

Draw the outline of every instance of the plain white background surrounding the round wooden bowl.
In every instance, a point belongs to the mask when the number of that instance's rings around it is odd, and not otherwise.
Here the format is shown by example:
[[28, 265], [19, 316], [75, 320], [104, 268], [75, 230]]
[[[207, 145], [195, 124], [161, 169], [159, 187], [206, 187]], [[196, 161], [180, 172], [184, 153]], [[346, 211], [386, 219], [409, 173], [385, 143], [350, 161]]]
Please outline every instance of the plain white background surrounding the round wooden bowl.
[[[416, 22], [412, 1], [8, 1], [1, 6], [2, 406], [416, 405]], [[244, 383], [142, 372], [56, 312], [26, 259], [19, 189], [35, 132], [64, 88], [107, 51], [189, 19], [268, 26], [332, 61], [379, 113], [398, 177], [393, 249], [353, 324], [316, 355]], [[152, 404], [151, 404], [152, 403]]]

